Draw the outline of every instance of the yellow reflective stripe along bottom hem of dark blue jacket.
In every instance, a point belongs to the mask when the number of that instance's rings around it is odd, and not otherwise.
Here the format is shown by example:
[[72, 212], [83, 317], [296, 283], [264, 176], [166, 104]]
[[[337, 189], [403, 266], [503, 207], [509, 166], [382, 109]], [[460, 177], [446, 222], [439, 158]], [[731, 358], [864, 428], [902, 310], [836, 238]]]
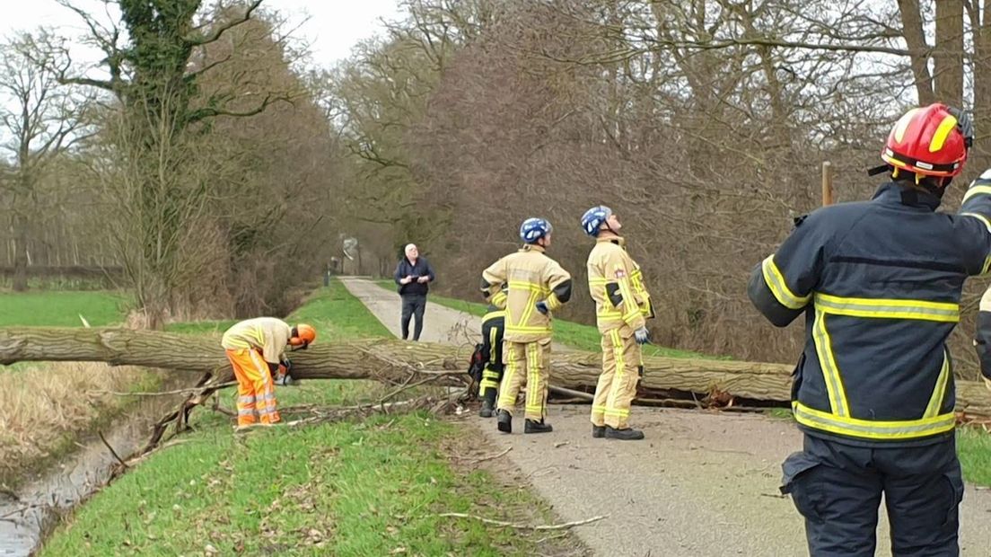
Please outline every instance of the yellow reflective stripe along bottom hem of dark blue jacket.
[[797, 400], [792, 402], [792, 411], [796, 421], [813, 429], [863, 439], [895, 440], [928, 437], [951, 431], [956, 424], [956, 416], [953, 412], [912, 420], [868, 420], [836, 416], [810, 408]]

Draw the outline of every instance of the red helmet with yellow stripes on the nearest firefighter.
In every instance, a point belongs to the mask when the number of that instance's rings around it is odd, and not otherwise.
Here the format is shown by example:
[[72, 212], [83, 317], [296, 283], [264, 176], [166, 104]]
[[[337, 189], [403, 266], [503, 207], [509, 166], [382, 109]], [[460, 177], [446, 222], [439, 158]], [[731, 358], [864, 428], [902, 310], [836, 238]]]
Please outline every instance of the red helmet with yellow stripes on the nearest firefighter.
[[967, 160], [971, 128], [969, 117], [944, 104], [913, 108], [888, 134], [881, 159], [896, 170], [955, 176]]

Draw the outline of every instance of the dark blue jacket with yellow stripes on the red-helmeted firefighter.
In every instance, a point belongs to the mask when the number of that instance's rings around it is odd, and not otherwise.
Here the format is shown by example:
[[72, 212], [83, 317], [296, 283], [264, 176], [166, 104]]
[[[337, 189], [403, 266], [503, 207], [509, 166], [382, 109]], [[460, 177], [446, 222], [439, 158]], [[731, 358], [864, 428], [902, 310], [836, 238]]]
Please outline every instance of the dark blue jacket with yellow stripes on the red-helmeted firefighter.
[[991, 179], [976, 180], [955, 215], [903, 183], [797, 221], [750, 278], [773, 324], [806, 315], [792, 409], [810, 435], [891, 446], [953, 434], [946, 338], [964, 279], [991, 261]]

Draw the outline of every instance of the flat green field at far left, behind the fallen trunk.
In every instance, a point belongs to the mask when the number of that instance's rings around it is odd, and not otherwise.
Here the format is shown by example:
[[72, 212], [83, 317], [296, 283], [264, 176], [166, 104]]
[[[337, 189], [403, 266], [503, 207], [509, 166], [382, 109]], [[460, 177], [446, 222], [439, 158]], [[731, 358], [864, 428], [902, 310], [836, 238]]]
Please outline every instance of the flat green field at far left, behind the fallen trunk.
[[0, 292], [0, 327], [94, 327], [120, 323], [125, 297], [106, 291]]

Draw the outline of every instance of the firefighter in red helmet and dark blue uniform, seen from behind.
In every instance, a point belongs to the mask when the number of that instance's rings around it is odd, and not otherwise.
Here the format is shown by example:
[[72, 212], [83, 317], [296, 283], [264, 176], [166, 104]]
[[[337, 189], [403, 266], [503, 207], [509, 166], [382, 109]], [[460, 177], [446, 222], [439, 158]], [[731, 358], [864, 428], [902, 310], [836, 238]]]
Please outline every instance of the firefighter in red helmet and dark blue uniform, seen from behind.
[[750, 299], [771, 323], [805, 316], [792, 390], [804, 450], [785, 461], [782, 492], [805, 516], [813, 556], [874, 555], [882, 494], [894, 555], [959, 552], [946, 338], [964, 279], [989, 261], [991, 174], [956, 214], [936, 207], [972, 137], [958, 110], [910, 110], [888, 137], [885, 165], [871, 170], [890, 176], [873, 198], [797, 219], [750, 278]]

